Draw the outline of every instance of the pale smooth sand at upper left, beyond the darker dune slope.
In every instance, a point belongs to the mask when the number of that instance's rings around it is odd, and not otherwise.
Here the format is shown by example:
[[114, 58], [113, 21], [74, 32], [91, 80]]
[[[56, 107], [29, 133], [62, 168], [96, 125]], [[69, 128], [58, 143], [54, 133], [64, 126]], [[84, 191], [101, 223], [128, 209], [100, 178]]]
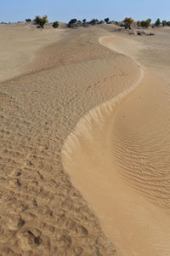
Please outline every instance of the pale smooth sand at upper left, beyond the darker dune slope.
[[37, 30], [35, 26], [23, 23], [0, 24], [0, 81], [12, 79], [20, 74], [27, 73], [25, 66], [38, 54], [38, 49], [58, 42], [65, 29]]

